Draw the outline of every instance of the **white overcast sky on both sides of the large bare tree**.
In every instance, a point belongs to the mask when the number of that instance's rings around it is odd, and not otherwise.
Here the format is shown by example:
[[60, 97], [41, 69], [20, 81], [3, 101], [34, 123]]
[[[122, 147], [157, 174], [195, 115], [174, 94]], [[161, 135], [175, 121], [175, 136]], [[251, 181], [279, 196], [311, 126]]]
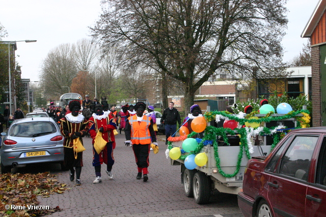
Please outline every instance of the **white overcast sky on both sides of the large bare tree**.
[[[289, 0], [288, 29], [284, 37], [284, 61], [298, 55], [307, 43], [301, 33], [319, 0]], [[53, 48], [90, 38], [88, 26], [93, 26], [101, 13], [100, 0], [2, 0], [0, 22], [8, 32], [3, 41], [17, 42], [16, 58], [22, 78], [39, 80], [43, 59]]]

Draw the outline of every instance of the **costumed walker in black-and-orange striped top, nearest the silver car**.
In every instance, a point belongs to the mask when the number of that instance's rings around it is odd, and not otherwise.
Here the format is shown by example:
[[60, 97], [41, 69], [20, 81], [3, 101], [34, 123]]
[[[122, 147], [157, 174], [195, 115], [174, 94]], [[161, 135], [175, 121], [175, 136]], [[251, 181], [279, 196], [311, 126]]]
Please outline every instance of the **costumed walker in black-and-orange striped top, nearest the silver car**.
[[[76, 185], [82, 184], [80, 182], [80, 173], [83, 167], [83, 152], [77, 153], [77, 159], [75, 159], [75, 153], [73, 150], [73, 140], [80, 138], [80, 142], [83, 144], [83, 139], [87, 134], [88, 121], [82, 114], [79, 114], [80, 102], [73, 100], [69, 103], [70, 113], [66, 114], [60, 119], [61, 134], [65, 137], [64, 139], [64, 166], [70, 170], [69, 179], [74, 180], [76, 170]], [[75, 167], [75, 170], [74, 170]]]

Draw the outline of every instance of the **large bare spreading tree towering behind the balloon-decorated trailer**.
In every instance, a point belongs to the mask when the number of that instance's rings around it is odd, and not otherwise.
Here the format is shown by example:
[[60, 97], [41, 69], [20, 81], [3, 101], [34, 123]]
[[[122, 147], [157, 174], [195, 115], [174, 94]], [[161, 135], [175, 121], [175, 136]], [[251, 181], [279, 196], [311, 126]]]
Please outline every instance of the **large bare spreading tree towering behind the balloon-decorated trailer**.
[[[185, 106], [216, 72], [233, 77], [279, 76], [285, 1], [104, 0], [91, 28], [106, 47], [152, 56], [166, 75], [184, 83]], [[137, 48], [137, 49], [136, 49]], [[142, 51], [142, 52], [139, 52]]]

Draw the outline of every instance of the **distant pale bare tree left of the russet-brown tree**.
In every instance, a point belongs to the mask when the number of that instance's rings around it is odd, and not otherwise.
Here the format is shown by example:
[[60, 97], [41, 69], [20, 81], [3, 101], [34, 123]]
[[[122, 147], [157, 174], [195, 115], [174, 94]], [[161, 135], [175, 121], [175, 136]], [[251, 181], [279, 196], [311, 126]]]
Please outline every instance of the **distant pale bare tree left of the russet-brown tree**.
[[72, 79], [77, 75], [76, 58], [74, 56], [74, 45], [61, 44], [51, 50], [42, 63], [40, 73], [41, 85], [44, 94], [56, 97], [55, 92], [64, 93], [71, 86]]

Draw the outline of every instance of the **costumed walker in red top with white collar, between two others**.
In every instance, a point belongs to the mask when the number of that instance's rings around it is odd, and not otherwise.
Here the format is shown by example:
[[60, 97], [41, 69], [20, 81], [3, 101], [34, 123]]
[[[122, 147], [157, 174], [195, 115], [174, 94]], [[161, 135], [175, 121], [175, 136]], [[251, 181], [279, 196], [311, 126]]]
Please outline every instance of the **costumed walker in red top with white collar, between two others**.
[[[112, 166], [114, 165], [113, 149], [116, 147], [116, 141], [114, 136], [114, 130], [117, 129], [117, 124], [114, 117], [110, 114], [110, 111], [103, 111], [101, 104], [96, 104], [95, 113], [90, 117], [89, 133], [93, 139], [93, 166], [95, 168], [96, 178], [93, 181], [94, 184], [102, 182], [101, 177], [101, 164], [106, 164], [106, 174], [109, 179], [113, 179]], [[102, 133], [102, 138], [107, 142], [104, 149], [97, 153], [94, 148], [94, 139], [97, 132]]]

